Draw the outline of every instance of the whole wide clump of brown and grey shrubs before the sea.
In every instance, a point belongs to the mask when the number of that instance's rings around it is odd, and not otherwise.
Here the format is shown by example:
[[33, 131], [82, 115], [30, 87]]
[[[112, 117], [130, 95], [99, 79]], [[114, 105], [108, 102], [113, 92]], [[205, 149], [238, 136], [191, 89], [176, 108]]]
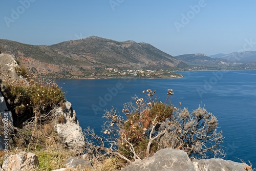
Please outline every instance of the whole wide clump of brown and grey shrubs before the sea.
[[135, 103], [124, 104], [122, 113], [126, 118], [114, 109], [105, 112], [105, 136], [96, 135], [90, 128], [85, 130], [89, 156], [99, 159], [114, 155], [132, 162], [166, 147], [182, 149], [190, 158], [225, 156], [220, 145], [222, 132], [217, 133], [214, 115], [202, 108], [192, 113], [178, 110], [171, 104], [173, 90], [168, 90], [164, 103], [157, 100], [156, 91], [146, 92], [146, 100], [135, 96]]

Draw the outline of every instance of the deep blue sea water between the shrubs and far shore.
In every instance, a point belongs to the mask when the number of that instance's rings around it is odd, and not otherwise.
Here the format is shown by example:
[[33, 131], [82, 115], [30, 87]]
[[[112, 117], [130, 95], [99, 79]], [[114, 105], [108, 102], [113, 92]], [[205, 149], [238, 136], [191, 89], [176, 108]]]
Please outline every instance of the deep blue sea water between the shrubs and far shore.
[[[56, 80], [67, 92], [79, 123], [84, 129], [94, 127], [100, 134], [104, 110], [117, 109], [132, 97], [145, 98], [143, 90], [156, 90], [165, 101], [167, 89], [173, 89], [172, 103], [191, 112], [204, 106], [217, 116], [219, 130], [225, 137], [224, 159], [256, 165], [256, 71], [180, 72], [179, 79], [77, 79]], [[63, 84], [65, 83], [65, 84]], [[248, 163], [249, 164], [249, 163]]]

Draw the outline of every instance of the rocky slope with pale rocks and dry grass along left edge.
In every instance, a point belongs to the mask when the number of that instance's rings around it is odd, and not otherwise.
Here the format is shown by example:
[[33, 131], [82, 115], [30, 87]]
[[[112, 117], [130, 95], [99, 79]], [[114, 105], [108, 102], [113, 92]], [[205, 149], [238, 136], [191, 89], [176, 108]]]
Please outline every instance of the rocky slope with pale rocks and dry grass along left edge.
[[[31, 99], [31, 104], [22, 105], [26, 109], [17, 112], [17, 109], [21, 109], [19, 103], [30, 98], [26, 94], [38, 82], [31, 82], [17, 72], [20, 67], [12, 55], [0, 54], [0, 61], [0, 170], [49, 170], [44, 162], [51, 160], [51, 155], [56, 152], [66, 158], [82, 154], [85, 142], [72, 104], [62, 101], [61, 105], [54, 104], [51, 109], [44, 108], [47, 104], [42, 101], [51, 90], [48, 82], [40, 86], [49, 89], [44, 89], [45, 94], [37, 95], [41, 100], [39, 108], [34, 108], [32, 103], [35, 101]], [[40, 91], [37, 88], [36, 91]], [[50, 96], [57, 98], [54, 93]], [[24, 115], [23, 111], [27, 109], [33, 113], [25, 112]], [[42, 120], [45, 114], [47, 117]], [[22, 121], [20, 118], [28, 119]], [[20, 121], [22, 124], [18, 124]], [[32, 151], [39, 155], [37, 157], [22, 151]], [[16, 153], [19, 154], [11, 155]], [[44, 157], [46, 155], [49, 155], [48, 158]]]

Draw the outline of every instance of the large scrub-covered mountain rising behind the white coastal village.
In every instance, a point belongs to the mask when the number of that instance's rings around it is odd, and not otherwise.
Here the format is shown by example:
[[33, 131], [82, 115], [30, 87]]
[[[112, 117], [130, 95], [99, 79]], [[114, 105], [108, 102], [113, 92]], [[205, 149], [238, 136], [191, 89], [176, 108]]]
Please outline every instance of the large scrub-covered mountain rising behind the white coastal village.
[[0, 39], [3, 53], [42, 76], [87, 76], [105, 68], [119, 70], [177, 70], [184, 62], [145, 42], [115, 41], [97, 36], [61, 42], [56, 45], [27, 45]]

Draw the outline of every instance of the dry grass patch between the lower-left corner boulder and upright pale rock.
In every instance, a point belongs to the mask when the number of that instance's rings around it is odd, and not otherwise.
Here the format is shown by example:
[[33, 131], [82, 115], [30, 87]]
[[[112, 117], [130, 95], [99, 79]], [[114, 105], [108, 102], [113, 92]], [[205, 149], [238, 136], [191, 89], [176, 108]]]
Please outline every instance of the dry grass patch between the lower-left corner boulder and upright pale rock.
[[44, 125], [27, 125], [18, 130], [13, 138], [15, 148], [10, 153], [17, 154], [20, 149], [38, 156], [39, 166], [35, 170], [53, 170], [63, 165], [74, 152], [65, 148], [51, 123]]

